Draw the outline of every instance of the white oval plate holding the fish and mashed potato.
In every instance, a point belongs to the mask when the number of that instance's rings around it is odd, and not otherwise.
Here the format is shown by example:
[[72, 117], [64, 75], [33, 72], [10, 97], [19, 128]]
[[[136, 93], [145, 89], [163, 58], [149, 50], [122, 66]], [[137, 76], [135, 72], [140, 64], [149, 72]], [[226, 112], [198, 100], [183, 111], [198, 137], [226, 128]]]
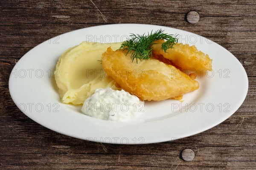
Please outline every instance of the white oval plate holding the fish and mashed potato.
[[[113, 122], [81, 114], [81, 107], [60, 102], [52, 78], [64, 50], [82, 41], [121, 42], [130, 33], [163, 29], [180, 42], [195, 45], [212, 58], [212, 72], [198, 73], [200, 88], [183, 96], [184, 102], [145, 102], [145, 112], [131, 122]], [[241, 63], [217, 43], [200, 35], [165, 26], [113, 24], [68, 32], [27, 52], [15, 65], [9, 90], [17, 107], [39, 124], [64, 135], [112, 144], [147, 144], [175, 140], [208, 130], [241, 106], [248, 79]]]

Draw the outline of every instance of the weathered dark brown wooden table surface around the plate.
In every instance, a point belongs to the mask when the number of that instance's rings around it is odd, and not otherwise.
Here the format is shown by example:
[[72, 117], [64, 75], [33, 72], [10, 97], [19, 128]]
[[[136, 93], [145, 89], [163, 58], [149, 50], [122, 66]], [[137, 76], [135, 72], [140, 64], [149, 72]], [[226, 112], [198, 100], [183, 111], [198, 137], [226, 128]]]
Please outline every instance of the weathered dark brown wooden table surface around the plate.
[[[196, 24], [184, 20], [196, 11]], [[247, 97], [226, 121], [175, 141], [118, 145], [61, 135], [24, 115], [9, 94], [15, 63], [59, 34], [111, 23], [145, 23], [183, 29], [228, 49], [249, 79]], [[255, 0], [0, 0], [0, 169], [256, 169]], [[190, 148], [195, 158], [183, 161]]]

